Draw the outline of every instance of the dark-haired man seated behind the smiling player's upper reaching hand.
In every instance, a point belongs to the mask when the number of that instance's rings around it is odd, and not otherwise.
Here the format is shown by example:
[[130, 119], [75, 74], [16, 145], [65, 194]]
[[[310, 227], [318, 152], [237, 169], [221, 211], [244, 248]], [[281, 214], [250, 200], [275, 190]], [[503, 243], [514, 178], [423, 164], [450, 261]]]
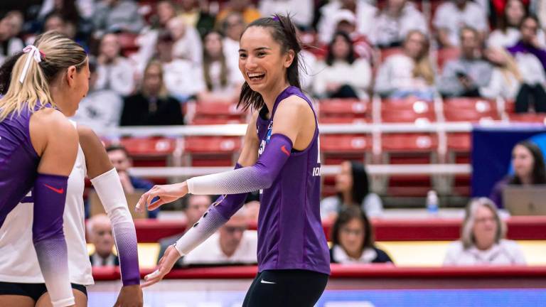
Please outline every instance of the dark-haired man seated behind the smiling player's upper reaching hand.
[[[149, 190], [154, 184], [145, 179], [130, 176], [129, 168], [132, 168], [133, 161], [129, 152], [122, 145], [110, 145], [106, 148], [108, 158], [112, 163], [112, 166], [116, 168], [119, 175], [119, 180], [122, 182], [122, 187], [125, 193], [132, 194], [137, 190]], [[148, 211], [149, 218], [156, 218], [159, 212], [159, 208], [156, 210]]]

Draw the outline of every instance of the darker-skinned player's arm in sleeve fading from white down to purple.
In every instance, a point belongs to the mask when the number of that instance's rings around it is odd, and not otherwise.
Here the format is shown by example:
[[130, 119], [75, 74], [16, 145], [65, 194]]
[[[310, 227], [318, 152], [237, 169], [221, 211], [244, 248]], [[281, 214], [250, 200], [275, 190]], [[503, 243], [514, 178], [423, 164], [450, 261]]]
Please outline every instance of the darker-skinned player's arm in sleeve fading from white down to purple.
[[140, 307], [143, 305], [143, 298], [140, 288], [137, 234], [131, 213], [127, 208], [122, 184], [95, 132], [85, 126], [78, 126], [77, 132], [83, 153], [87, 157], [85, 159], [87, 176], [91, 179], [105, 212], [112, 222], [112, 232], [119, 254], [123, 286], [114, 306]]

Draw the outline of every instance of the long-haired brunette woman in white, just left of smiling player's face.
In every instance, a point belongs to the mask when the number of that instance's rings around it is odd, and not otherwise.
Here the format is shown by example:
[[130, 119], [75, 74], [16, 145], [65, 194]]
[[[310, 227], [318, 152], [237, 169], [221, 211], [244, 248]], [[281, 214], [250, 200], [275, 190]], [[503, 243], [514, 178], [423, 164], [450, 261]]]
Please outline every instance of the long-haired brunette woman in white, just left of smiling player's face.
[[205, 89], [198, 95], [200, 102], [235, 103], [245, 81], [240, 70], [228, 65], [222, 46], [222, 36], [210, 32], [203, 38], [203, 65], [200, 82]]

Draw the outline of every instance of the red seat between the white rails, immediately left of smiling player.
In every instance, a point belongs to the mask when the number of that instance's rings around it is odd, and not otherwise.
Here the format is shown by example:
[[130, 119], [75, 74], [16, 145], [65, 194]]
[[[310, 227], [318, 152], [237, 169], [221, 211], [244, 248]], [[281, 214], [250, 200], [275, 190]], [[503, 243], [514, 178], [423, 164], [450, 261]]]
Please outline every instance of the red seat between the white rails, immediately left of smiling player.
[[232, 166], [241, 144], [239, 136], [188, 136], [184, 154], [191, 166]]

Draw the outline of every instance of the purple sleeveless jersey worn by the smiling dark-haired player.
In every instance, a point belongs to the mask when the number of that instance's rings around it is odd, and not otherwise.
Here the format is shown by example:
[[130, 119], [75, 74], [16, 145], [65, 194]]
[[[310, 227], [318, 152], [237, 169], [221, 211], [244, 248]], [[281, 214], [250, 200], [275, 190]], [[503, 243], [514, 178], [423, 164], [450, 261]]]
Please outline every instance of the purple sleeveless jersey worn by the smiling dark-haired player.
[[[271, 137], [279, 102], [292, 95], [305, 99], [313, 108], [299, 88], [291, 86], [281, 92], [270, 119], [264, 119], [263, 112], [257, 119], [259, 154]], [[267, 107], [262, 111], [267, 112]], [[330, 274], [330, 254], [320, 215], [320, 168], [317, 123], [311, 144], [304, 151], [293, 150], [272, 186], [260, 194], [258, 271], [305, 269]]]

